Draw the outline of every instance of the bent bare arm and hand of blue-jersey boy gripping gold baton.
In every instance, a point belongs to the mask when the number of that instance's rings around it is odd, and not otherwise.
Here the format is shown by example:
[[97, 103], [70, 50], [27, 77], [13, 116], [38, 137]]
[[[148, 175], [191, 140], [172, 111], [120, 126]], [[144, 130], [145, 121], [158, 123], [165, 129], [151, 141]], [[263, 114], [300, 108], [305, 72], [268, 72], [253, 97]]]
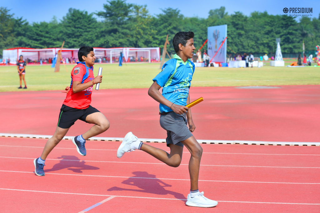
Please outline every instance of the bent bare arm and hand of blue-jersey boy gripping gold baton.
[[161, 87], [156, 83], [156, 81], [153, 82], [151, 87], [148, 90], [148, 95], [150, 95], [153, 99], [155, 99], [157, 102], [162, 103], [163, 105], [169, 107], [174, 111], [175, 113], [181, 115], [188, 111], [188, 107], [181, 106], [172, 103], [171, 101], [167, 100], [160, 92], [159, 89]]

